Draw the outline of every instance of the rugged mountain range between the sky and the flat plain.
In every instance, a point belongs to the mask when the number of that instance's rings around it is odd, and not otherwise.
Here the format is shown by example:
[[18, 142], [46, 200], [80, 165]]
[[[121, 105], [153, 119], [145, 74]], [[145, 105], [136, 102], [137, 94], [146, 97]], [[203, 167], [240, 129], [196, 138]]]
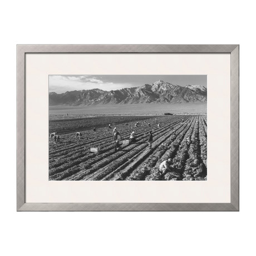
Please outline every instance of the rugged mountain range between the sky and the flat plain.
[[100, 89], [49, 93], [49, 105], [142, 104], [206, 102], [207, 88], [201, 85], [173, 85], [159, 80], [152, 85], [103, 91]]

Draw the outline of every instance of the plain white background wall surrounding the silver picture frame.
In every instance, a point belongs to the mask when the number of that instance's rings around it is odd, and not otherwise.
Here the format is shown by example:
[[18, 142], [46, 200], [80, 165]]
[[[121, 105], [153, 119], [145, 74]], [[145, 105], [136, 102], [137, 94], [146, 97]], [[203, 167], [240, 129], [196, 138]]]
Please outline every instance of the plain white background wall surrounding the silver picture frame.
[[[0, 19], [2, 255], [255, 251], [253, 1], [4, 1]], [[240, 44], [240, 212], [17, 213], [16, 44], [22, 43]]]

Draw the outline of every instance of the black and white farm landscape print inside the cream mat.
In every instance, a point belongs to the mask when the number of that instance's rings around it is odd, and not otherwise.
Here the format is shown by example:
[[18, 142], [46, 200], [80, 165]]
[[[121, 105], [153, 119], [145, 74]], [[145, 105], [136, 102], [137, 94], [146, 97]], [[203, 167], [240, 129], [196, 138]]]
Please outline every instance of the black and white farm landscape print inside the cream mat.
[[49, 180], [207, 180], [206, 75], [50, 75]]

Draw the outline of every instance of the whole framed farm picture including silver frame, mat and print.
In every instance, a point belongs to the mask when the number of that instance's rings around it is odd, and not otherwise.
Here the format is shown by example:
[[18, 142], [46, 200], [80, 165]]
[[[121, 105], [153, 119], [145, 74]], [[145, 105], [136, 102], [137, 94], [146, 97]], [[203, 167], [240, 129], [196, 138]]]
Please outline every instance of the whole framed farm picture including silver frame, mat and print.
[[238, 211], [238, 45], [18, 45], [18, 211]]

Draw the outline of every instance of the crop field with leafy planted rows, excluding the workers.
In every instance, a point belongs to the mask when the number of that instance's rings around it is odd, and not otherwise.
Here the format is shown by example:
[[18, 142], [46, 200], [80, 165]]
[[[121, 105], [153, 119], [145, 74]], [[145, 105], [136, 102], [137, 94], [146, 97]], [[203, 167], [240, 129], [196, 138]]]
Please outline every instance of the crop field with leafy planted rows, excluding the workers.
[[[137, 121], [140, 125], [135, 127]], [[206, 115], [98, 116], [50, 120], [49, 124], [50, 133], [60, 134], [59, 144], [49, 142], [49, 180], [207, 179], [206, 171], [194, 177], [201, 163], [207, 167]], [[122, 144], [115, 152], [114, 127], [122, 140], [135, 131], [136, 142]], [[81, 139], [76, 139], [77, 131], [82, 131]], [[147, 145], [149, 131], [153, 135], [152, 149]], [[101, 150], [91, 152], [91, 147]], [[159, 165], [168, 158], [173, 159], [171, 171], [162, 175]]]

